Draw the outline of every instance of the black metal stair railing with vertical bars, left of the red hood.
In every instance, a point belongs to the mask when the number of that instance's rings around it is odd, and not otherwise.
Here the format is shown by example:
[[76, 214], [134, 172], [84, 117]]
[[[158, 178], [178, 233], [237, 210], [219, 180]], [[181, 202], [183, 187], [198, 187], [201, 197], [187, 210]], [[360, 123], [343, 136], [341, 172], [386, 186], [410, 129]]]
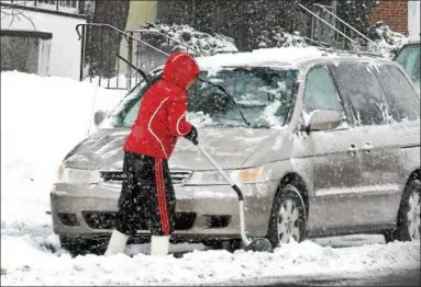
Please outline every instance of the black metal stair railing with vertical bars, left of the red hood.
[[[123, 67], [117, 54], [125, 57], [135, 67], [145, 68], [137, 60], [134, 62], [133, 56], [137, 54], [137, 48], [147, 48], [148, 57], [154, 58], [155, 61], [145, 69], [146, 72], [163, 65], [168, 56], [168, 53], [109, 24], [78, 24], [76, 32], [81, 41], [79, 80], [89, 78], [92, 82], [96, 79], [99, 87], [103, 87], [106, 82], [108, 89], [130, 90], [142, 80], [130, 65], [126, 65], [126, 70], [122, 73]], [[122, 74], [124, 74], [125, 84], [121, 84]]]

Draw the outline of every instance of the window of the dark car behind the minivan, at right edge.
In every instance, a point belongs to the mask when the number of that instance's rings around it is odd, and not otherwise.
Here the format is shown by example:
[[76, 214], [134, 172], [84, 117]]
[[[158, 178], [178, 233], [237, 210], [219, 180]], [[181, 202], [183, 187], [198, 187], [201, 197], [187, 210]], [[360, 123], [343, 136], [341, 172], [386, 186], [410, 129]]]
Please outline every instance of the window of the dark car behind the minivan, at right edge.
[[417, 84], [420, 84], [420, 45], [409, 45], [395, 59]]

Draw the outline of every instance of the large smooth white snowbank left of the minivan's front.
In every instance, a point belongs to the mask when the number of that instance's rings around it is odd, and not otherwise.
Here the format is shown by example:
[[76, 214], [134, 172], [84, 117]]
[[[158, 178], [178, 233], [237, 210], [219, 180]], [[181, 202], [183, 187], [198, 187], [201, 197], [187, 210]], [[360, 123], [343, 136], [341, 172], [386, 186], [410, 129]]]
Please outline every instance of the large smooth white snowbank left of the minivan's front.
[[51, 226], [52, 183], [63, 158], [95, 129], [92, 104], [93, 112], [110, 110], [124, 94], [71, 79], [1, 73], [2, 236]]

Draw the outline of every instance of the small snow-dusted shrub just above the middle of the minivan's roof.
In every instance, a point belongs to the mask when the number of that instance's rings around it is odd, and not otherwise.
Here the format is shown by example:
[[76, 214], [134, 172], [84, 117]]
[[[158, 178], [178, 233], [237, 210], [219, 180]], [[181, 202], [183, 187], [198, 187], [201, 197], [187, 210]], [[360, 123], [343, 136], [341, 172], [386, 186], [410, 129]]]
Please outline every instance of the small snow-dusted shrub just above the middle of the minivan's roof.
[[259, 48], [276, 47], [308, 47], [306, 39], [297, 34], [290, 34], [282, 27], [276, 26], [270, 31], [264, 30], [257, 37], [257, 46]]

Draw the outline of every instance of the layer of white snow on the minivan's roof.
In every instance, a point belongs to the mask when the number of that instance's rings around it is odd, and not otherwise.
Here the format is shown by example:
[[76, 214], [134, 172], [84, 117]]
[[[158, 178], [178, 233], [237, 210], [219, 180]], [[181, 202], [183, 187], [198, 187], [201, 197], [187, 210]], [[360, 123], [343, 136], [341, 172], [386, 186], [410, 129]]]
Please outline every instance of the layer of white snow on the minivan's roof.
[[299, 62], [317, 59], [323, 54], [325, 55], [326, 51], [317, 47], [268, 48], [198, 57], [197, 61], [202, 69], [229, 66], [295, 67]]

